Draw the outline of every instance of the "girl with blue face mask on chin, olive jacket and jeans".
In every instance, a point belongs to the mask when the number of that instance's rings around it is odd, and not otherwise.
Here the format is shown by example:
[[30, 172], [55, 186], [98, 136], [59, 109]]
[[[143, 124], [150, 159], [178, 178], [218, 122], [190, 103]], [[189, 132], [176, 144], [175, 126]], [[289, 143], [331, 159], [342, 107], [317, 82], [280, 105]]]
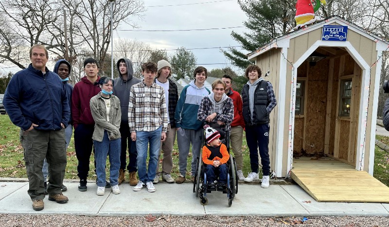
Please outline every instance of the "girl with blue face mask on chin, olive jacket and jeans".
[[97, 195], [105, 194], [106, 158], [109, 156], [109, 182], [113, 194], [120, 194], [118, 177], [120, 168], [120, 121], [122, 112], [119, 98], [112, 95], [113, 80], [102, 77], [97, 82], [101, 92], [90, 99], [90, 110], [95, 121], [93, 145], [97, 174]]

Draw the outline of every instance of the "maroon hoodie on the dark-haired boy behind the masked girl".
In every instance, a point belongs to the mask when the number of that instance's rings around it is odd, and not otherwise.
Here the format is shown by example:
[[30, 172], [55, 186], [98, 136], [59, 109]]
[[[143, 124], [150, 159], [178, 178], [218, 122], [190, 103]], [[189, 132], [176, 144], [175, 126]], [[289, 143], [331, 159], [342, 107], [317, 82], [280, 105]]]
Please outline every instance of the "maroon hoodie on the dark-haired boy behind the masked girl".
[[[98, 76], [97, 81], [99, 80], [100, 77]], [[88, 81], [87, 77], [81, 78], [81, 81], [74, 85], [71, 95], [71, 117], [74, 129], [77, 128], [78, 124], [94, 125], [89, 101], [99, 92], [101, 92], [99, 85], [94, 85]]]

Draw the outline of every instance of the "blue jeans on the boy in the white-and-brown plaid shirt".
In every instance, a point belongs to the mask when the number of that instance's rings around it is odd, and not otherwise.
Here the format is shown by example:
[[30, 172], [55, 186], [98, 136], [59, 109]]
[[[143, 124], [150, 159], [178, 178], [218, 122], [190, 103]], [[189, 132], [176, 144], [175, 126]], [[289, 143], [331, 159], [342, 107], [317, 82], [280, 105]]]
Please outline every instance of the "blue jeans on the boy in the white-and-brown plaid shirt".
[[[157, 163], [159, 161], [159, 148], [161, 146], [161, 133], [162, 127], [159, 127], [154, 131], [136, 131], [137, 139], [137, 164], [138, 164], [138, 175], [139, 180], [143, 183], [152, 182], [156, 175]], [[149, 148], [149, 166], [146, 169], [146, 158], [147, 158], [147, 146], [150, 142]]]

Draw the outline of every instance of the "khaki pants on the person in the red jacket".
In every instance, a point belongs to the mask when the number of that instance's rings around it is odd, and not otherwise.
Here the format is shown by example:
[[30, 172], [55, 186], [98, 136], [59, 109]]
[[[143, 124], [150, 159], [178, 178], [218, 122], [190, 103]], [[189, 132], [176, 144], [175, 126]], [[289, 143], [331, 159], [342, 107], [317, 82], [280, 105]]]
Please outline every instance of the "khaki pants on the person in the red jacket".
[[243, 152], [242, 152], [242, 143], [243, 143], [243, 128], [242, 126], [231, 127], [230, 131], [230, 146], [232, 153], [234, 153], [236, 161], [236, 169], [242, 170], [243, 168]]

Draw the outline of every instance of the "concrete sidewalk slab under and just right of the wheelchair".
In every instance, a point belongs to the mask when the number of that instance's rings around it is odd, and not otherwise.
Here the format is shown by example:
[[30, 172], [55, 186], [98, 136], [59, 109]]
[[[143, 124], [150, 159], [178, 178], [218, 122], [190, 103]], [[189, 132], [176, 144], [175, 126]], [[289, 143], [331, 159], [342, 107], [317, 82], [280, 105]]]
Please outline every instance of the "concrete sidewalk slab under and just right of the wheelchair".
[[[261, 188], [260, 185], [239, 185], [238, 194], [228, 207], [227, 194], [207, 194], [207, 214], [216, 215], [304, 215], [306, 211], [296, 200], [285, 193], [280, 185]], [[199, 204], [200, 199], [197, 203]]]

